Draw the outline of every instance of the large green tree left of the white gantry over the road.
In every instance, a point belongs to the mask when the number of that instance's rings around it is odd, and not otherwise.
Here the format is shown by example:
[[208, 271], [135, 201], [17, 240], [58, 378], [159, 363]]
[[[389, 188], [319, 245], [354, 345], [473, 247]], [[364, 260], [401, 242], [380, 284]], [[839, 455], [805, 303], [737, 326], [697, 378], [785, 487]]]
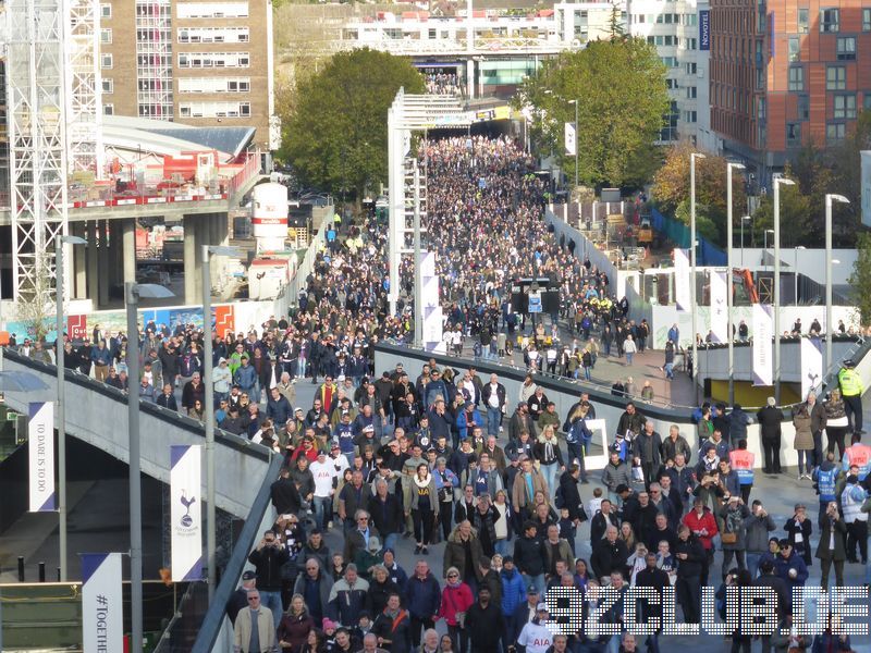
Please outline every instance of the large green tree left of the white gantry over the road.
[[424, 91], [407, 59], [368, 48], [333, 56], [297, 85], [279, 158], [305, 184], [359, 199], [387, 183], [388, 109], [401, 87]]

